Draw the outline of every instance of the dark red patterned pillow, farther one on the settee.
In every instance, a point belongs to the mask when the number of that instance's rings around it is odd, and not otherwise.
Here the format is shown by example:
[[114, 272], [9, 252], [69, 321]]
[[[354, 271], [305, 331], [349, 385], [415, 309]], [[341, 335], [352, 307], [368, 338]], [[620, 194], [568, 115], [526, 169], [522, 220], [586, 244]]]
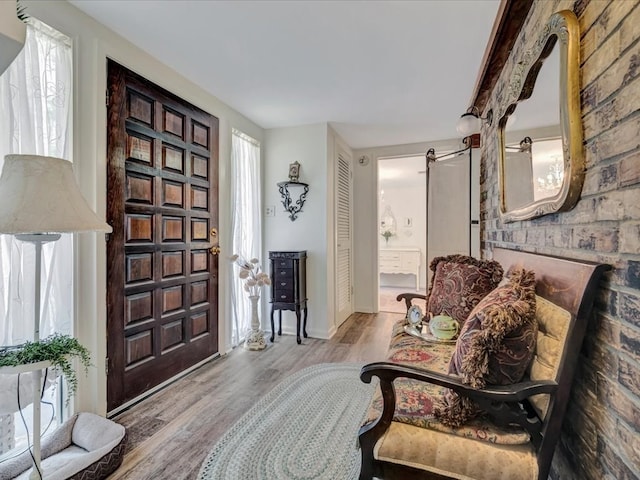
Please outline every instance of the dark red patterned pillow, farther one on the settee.
[[504, 273], [495, 260], [478, 260], [467, 255], [435, 257], [429, 268], [433, 280], [429, 288], [427, 312], [448, 315], [460, 326], [473, 307], [498, 286]]

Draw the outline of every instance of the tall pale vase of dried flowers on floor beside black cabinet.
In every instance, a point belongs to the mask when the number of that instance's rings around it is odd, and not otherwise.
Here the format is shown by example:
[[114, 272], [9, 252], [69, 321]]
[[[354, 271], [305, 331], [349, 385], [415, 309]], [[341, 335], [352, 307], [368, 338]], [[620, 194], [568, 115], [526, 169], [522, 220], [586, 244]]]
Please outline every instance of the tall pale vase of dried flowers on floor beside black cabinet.
[[264, 331], [260, 329], [258, 317], [258, 301], [260, 290], [265, 285], [271, 285], [269, 274], [262, 271], [260, 261], [257, 258], [245, 259], [242, 255], [232, 255], [230, 260], [240, 267], [238, 277], [244, 280], [244, 290], [249, 294], [251, 301], [251, 329], [244, 340], [244, 348], [247, 350], [264, 350], [267, 342], [264, 339]]

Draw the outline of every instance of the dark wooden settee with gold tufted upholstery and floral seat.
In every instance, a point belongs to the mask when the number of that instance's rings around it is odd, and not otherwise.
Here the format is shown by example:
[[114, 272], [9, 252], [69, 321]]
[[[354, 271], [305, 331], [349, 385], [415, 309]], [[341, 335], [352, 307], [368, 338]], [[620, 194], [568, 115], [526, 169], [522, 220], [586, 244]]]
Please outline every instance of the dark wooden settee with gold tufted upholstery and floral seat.
[[[380, 475], [385, 464], [437, 478], [547, 478], [598, 284], [608, 266], [499, 248], [493, 259], [505, 272], [535, 272], [538, 332], [527, 375], [511, 385], [472, 388], [447, 373], [455, 346], [407, 335], [399, 322], [387, 361], [366, 365], [360, 375], [366, 383], [372, 377], [380, 380], [379, 397], [359, 432], [361, 479]], [[425, 403], [448, 389], [472, 399], [484, 413], [461, 427], [443, 425]]]

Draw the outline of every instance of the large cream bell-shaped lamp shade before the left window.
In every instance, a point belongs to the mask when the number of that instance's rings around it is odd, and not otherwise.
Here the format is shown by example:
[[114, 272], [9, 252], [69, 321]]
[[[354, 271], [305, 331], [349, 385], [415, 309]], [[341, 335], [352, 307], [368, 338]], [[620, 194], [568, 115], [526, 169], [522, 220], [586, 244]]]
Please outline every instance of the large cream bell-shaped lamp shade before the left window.
[[0, 233], [110, 232], [85, 201], [71, 162], [7, 155], [0, 176]]

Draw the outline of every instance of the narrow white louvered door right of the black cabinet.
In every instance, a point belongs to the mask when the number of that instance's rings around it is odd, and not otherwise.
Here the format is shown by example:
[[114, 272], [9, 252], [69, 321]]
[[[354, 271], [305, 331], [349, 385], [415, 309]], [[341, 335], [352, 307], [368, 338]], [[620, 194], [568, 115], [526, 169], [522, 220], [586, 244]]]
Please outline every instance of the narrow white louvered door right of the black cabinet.
[[336, 168], [336, 328], [353, 313], [351, 155], [338, 150]]

